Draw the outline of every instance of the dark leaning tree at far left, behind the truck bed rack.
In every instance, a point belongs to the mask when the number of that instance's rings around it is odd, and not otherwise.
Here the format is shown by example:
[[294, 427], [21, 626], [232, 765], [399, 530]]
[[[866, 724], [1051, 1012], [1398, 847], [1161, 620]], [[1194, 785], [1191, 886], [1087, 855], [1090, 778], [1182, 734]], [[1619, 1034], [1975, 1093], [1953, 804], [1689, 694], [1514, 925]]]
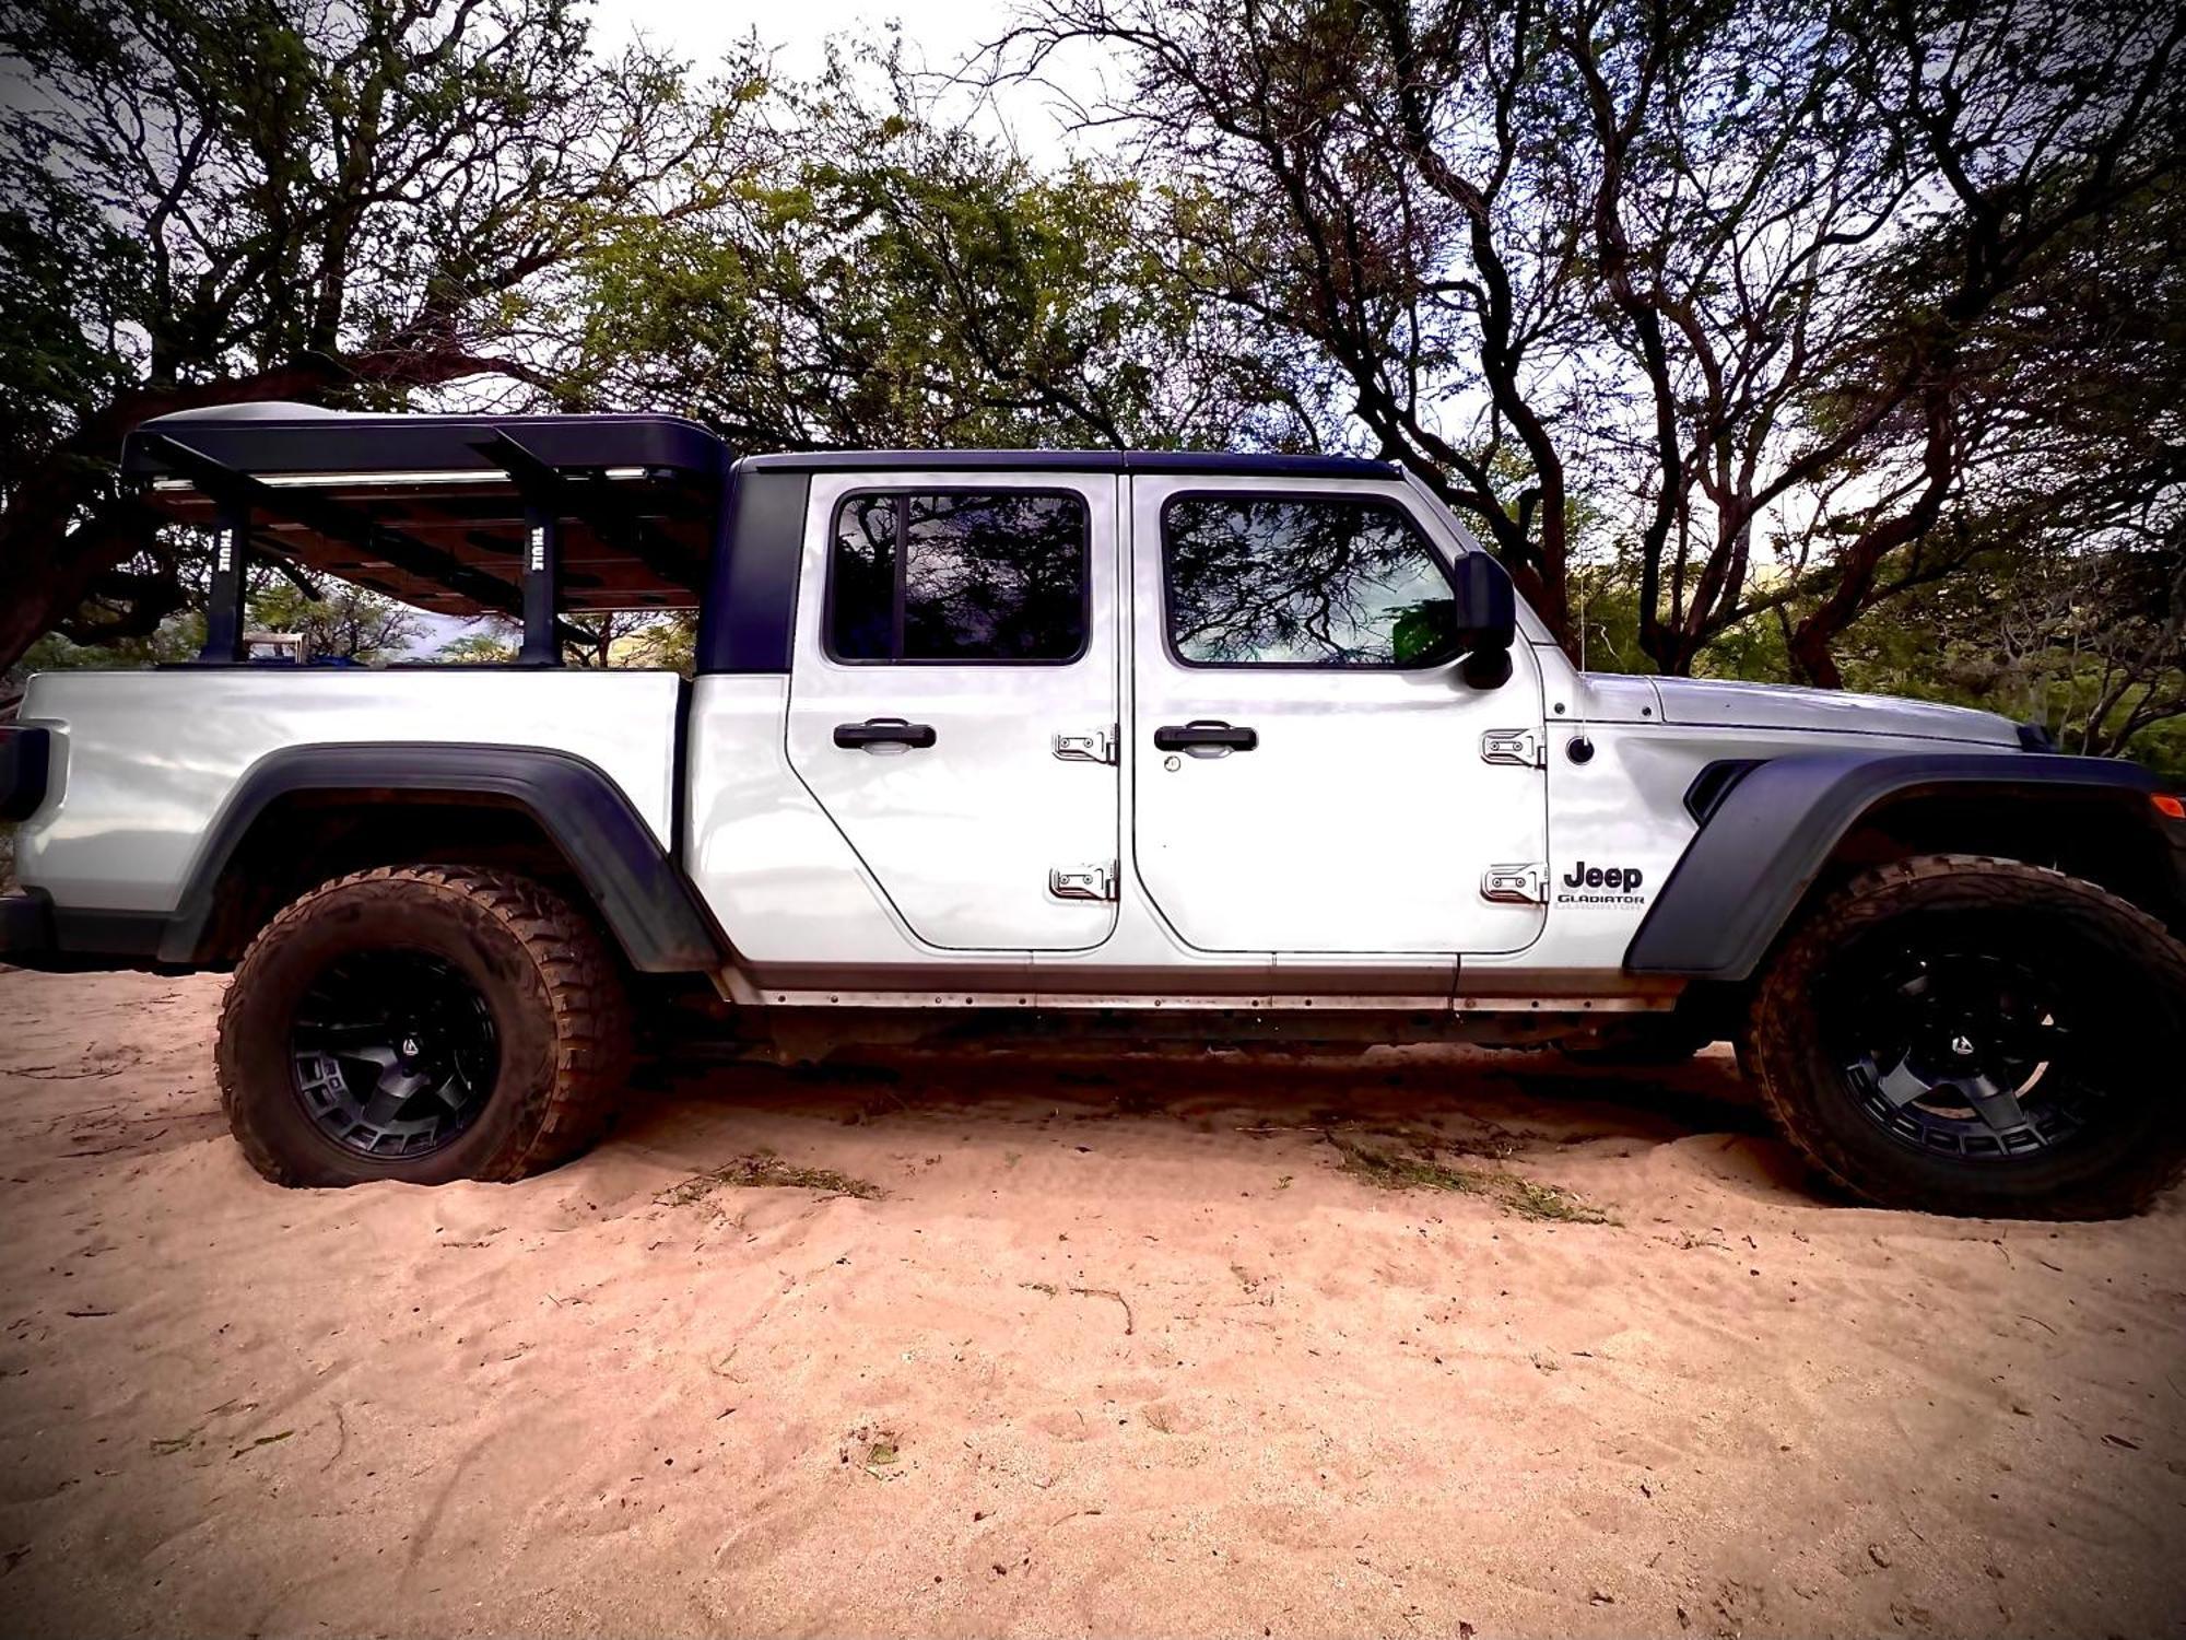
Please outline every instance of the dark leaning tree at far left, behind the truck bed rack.
[[595, 59], [571, 0], [13, 0], [0, 72], [0, 665], [181, 601], [114, 483], [129, 426], [551, 394], [540, 297], [739, 140], [669, 59]]

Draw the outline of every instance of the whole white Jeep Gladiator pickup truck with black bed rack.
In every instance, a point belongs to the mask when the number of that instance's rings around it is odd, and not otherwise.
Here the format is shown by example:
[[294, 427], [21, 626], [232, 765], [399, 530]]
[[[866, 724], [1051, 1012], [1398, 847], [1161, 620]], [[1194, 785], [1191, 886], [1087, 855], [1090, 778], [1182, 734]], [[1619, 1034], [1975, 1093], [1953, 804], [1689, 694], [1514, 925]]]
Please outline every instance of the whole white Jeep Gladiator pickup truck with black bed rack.
[[[234, 969], [269, 1179], [553, 1165], [693, 982], [745, 1043], [1729, 1039], [1897, 1207], [2129, 1211], [2186, 1159], [2173, 794], [1987, 713], [1580, 673], [1397, 468], [299, 407], [122, 468], [214, 531], [205, 652], [31, 682], [0, 956]], [[254, 553], [522, 654], [245, 660]], [[560, 665], [647, 606], [702, 610], [695, 680]]]

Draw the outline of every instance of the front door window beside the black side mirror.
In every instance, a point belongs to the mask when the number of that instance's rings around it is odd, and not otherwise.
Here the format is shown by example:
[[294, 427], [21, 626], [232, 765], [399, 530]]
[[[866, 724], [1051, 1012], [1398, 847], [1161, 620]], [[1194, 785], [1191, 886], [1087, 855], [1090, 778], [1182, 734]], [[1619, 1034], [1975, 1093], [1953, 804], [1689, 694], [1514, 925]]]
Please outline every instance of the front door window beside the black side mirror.
[[1384, 501], [1178, 496], [1161, 547], [1185, 663], [1430, 667], [1458, 654], [1449, 577]]

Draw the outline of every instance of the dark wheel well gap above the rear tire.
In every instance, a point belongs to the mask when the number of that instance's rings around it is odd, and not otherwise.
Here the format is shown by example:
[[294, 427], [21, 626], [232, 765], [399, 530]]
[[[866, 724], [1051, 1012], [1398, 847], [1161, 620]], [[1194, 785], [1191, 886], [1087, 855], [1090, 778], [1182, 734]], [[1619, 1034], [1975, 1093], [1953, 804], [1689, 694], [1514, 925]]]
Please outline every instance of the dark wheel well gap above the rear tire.
[[522, 872], [597, 914], [568, 859], [520, 803], [461, 792], [286, 792], [223, 864], [197, 958], [232, 967], [282, 905], [324, 881], [424, 864]]

